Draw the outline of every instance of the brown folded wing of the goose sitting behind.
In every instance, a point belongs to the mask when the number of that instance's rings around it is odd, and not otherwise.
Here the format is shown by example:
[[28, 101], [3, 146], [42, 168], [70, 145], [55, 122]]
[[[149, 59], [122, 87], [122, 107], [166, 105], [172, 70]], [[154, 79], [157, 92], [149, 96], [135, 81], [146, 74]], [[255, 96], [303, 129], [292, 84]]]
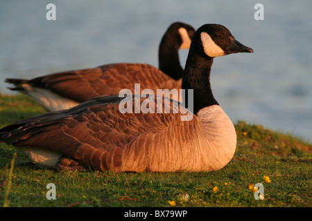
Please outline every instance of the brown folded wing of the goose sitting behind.
[[76, 102], [85, 102], [100, 95], [118, 95], [123, 88], [134, 93], [135, 83], [141, 90], [180, 88], [175, 81], [161, 70], [148, 64], [109, 64], [98, 68], [56, 73], [42, 78], [46, 88], [62, 97]]

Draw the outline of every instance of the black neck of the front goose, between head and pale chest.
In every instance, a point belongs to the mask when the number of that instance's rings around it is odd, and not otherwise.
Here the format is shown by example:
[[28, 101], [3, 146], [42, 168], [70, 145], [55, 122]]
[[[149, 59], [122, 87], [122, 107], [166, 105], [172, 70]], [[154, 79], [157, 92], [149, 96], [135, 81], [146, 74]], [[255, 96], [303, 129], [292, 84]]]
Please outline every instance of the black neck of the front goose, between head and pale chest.
[[185, 89], [185, 105], [188, 107], [188, 89], [193, 89], [193, 113], [211, 105], [218, 105], [212, 94], [210, 71], [214, 59], [201, 57], [194, 51], [189, 52], [187, 64], [182, 78], [182, 89]]

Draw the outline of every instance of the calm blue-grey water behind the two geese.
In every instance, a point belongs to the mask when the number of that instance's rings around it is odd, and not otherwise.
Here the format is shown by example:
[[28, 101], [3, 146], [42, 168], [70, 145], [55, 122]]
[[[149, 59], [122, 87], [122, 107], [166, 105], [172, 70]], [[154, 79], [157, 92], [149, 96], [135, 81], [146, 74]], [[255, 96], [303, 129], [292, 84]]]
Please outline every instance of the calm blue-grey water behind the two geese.
[[[46, 20], [46, 5], [56, 20]], [[264, 20], [254, 19], [254, 5]], [[254, 49], [214, 59], [211, 86], [233, 122], [245, 120], [312, 140], [312, 1], [0, 1], [0, 89], [33, 78], [114, 62], [157, 66], [174, 21], [220, 23]], [[180, 52], [184, 64], [187, 51]]]

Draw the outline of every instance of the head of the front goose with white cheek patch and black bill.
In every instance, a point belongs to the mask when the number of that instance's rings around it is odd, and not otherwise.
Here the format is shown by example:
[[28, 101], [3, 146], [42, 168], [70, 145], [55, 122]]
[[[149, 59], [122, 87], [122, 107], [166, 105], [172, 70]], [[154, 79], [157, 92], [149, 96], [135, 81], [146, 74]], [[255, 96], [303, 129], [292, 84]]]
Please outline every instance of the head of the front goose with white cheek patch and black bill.
[[205, 54], [208, 57], [219, 57], [238, 52], [254, 52], [252, 48], [236, 41], [225, 26], [218, 24], [201, 26], [193, 38], [197, 39], [192, 41], [194, 42], [193, 48], [200, 54]]

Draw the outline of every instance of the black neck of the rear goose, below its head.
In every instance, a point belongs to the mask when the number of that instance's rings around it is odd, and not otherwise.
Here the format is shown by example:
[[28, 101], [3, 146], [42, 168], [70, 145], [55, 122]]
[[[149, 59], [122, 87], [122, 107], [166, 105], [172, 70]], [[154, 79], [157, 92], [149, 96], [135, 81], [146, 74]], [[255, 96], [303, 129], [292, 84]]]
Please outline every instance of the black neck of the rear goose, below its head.
[[178, 50], [179, 48], [175, 45], [164, 44], [159, 46], [158, 52], [159, 70], [175, 80], [181, 79], [183, 75]]

